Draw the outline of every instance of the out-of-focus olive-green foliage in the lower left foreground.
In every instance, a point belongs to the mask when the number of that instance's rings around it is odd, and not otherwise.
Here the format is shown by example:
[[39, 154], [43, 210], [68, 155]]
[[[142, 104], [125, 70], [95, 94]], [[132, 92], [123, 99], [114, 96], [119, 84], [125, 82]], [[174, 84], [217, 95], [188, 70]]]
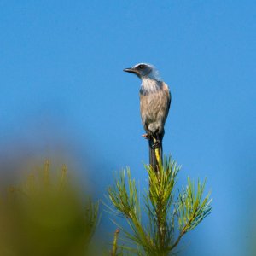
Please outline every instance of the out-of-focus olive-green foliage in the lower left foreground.
[[2, 193], [1, 256], [88, 254], [98, 203], [92, 203], [89, 195], [82, 196], [67, 178], [66, 166], [56, 173], [46, 161], [26, 182]]

